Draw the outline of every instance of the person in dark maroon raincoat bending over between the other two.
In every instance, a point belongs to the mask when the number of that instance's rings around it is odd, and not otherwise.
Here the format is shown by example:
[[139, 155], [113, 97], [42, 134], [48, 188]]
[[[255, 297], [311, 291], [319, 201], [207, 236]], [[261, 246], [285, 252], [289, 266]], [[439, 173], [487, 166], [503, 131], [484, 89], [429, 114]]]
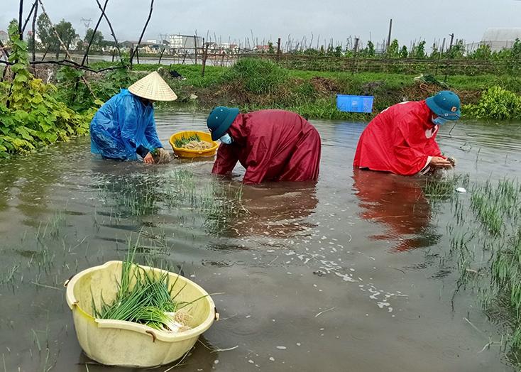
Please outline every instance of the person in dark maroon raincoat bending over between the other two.
[[212, 140], [221, 140], [212, 173], [224, 175], [237, 161], [246, 168], [245, 184], [317, 180], [320, 136], [302, 116], [261, 110], [240, 114], [218, 106], [207, 119]]

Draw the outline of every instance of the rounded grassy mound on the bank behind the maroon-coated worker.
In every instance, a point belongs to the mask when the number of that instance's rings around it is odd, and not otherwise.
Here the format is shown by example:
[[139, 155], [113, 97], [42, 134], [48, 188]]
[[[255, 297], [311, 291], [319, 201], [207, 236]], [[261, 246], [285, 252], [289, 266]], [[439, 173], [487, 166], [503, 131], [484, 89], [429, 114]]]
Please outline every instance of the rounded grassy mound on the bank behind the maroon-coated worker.
[[225, 79], [241, 84], [255, 94], [275, 92], [286, 81], [287, 71], [270, 60], [242, 58], [226, 74]]

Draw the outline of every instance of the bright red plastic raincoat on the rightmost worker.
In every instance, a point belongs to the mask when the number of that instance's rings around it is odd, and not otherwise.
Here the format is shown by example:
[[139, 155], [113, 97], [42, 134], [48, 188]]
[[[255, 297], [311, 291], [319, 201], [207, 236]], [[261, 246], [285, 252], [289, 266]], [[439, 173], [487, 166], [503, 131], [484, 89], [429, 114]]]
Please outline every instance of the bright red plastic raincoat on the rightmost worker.
[[356, 148], [353, 166], [415, 175], [430, 158], [442, 156], [436, 143], [438, 126], [425, 103], [404, 102], [380, 112], [364, 129]]

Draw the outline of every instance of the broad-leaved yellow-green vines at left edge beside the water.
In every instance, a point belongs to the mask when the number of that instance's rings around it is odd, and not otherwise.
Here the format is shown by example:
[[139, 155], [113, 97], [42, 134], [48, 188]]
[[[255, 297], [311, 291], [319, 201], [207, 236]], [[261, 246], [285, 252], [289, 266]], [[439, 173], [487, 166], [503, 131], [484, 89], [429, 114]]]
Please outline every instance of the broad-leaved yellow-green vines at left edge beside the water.
[[77, 114], [58, 102], [55, 87], [31, 75], [27, 43], [20, 40], [14, 24], [9, 37], [14, 77], [12, 84], [0, 83], [0, 158], [88, 133], [89, 114]]

